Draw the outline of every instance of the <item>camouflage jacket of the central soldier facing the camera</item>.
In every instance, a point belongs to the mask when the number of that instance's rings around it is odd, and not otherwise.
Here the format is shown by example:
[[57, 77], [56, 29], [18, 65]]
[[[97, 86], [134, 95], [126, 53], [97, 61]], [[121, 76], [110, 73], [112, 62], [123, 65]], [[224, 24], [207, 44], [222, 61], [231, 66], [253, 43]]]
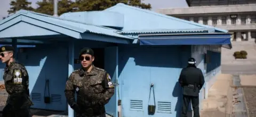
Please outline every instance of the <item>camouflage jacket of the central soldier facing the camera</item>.
[[[77, 102], [75, 102], [75, 92], [77, 93]], [[114, 95], [114, 85], [104, 69], [93, 67], [90, 73], [86, 73], [81, 68], [69, 76], [65, 95], [71, 107], [77, 104], [84, 112], [91, 109], [103, 113], [105, 104]]]

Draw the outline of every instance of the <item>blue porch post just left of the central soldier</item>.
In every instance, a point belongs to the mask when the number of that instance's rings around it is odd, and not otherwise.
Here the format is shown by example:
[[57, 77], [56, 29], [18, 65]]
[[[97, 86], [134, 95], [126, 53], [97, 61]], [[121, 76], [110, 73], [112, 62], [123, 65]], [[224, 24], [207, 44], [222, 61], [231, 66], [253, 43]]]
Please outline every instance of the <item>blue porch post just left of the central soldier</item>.
[[[68, 43], [68, 77], [70, 74], [74, 71], [74, 39], [70, 39], [70, 42]], [[74, 117], [74, 110], [70, 107], [68, 104], [68, 117]]]

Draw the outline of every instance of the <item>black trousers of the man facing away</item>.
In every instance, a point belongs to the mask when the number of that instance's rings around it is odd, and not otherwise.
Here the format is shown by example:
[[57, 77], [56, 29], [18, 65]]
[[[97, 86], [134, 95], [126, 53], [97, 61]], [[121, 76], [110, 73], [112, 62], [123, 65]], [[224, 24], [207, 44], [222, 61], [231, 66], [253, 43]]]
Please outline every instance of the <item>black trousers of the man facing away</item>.
[[194, 117], [200, 117], [200, 115], [199, 115], [199, 97], [198, 96], [188, 96], [188, 95], [183, 95], [183, 105], [182, 105], [181, 117], [187, 117], [188, 106], [189, 106], [190, 101], [192, 103]]

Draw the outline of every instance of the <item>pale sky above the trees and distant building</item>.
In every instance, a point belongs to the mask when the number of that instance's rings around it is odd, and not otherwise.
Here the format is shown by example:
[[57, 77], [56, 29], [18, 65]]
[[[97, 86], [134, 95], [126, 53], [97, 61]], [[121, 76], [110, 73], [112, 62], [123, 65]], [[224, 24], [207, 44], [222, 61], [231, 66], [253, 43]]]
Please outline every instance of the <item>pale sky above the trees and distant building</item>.
[[[12, 0], [0, 0], [0, 19], [8, 15], [7, 10], [10, 8], [10, 1]], [[32, 7], [36, 8], [36, 2], [39, 0], [28, 0], [32, 2]], [[150, 3], [152, 11], [158, 8], [174, 8], [174, 7], [188, 7], [186, 0], [144, 0], [143, 3]]]

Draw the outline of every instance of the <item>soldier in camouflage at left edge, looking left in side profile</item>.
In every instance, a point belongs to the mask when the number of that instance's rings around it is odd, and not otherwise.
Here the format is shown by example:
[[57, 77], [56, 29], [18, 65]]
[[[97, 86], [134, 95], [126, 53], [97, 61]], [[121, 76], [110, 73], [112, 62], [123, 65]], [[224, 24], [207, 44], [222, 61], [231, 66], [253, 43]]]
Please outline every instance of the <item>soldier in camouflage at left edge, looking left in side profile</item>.
[[28, 117], [29, 107], [33, 105], [29, 98], [28, 73], [26, 68], [15, 62], [12, 46], [0, 47], [0, 59], [6, 64], [4, 68], [4, 84], [9, 94], [3, 109], [4, 117]]

